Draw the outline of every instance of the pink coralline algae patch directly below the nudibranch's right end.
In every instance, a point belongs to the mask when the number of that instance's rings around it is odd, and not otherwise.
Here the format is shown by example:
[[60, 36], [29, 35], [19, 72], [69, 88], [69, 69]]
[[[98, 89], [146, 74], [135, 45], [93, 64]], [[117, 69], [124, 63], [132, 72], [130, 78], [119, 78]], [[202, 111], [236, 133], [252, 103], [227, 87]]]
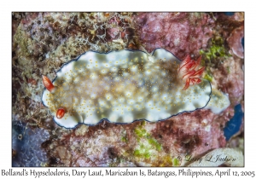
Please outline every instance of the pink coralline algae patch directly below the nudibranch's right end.
[[193, 113], [183, 113], [166, 123], [156, 124], [153, 131], [161, 137], [164, 148], [196, 156], [210, 148], [224, 147], [225, 140], [219, 126], [228, 120], [229, 111], [229, 108], [226, 109], [221, 118], [203, 109]]

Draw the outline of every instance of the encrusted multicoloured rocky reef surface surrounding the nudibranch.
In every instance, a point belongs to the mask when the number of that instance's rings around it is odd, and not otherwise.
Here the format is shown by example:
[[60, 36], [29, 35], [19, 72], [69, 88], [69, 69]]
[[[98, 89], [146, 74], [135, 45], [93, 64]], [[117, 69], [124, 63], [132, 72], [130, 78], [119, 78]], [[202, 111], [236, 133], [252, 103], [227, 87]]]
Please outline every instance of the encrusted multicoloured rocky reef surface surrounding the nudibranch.
[[[13, 166], [177, 166], [188, 165], [188, 153], [220, 147], [243, 153], [243, 28], [243, 13], [13, 13]], [[67, 130], [42, 104], [41, 76], [54, 79], [86, 51], [156, 48], [181, 60], [202, 55], [202, 78], [229, 96], [230, 107], [220, 114], [203, 108], [159, 122], [103, 120]], [[230, 128], [231, 118], [241, 122]]]

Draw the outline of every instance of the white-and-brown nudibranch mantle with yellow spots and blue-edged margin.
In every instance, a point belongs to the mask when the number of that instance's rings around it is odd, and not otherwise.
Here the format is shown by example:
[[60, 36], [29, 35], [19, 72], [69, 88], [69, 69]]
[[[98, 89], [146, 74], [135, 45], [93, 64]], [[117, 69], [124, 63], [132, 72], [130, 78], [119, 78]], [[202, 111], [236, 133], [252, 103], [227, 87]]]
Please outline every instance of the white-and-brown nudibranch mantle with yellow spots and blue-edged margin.
[[[177, 75], [181, 61], [166, 49], [149, 56], [150, 61], [140, 50], [88, 51], [56, 72], [55, 90], [44, 89], [43, 104], [65, 128], [104, 118], [119, 124], [158, 121], [207, 106], [212, 92], [207, 80], [183, 90]], [[56, 117], [60, 107], [63, 118]]]

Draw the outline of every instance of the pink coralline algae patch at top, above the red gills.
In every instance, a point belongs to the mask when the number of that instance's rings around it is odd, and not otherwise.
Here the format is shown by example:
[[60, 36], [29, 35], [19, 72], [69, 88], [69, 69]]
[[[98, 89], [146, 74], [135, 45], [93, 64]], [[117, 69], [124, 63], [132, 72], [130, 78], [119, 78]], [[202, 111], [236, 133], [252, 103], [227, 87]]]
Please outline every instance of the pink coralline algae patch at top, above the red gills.
[[212, 37], [209, 14], [141, 13], [137, 16], [138, 34], [145, 49], [164, 48], [183, 59], [199, 55]]

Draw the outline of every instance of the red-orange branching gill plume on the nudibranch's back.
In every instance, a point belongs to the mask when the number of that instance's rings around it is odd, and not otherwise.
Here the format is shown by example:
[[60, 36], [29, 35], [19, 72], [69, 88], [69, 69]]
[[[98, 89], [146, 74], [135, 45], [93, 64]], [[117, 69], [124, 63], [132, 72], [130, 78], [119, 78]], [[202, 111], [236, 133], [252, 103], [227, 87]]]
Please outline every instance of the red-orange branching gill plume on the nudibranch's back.
[[201, 63], [201, 56], [197, 61], [193, 61], [188, 55], [180, 64], [177, 69], [178, 75], [185, 82], [183, 90], [187, 90], [189, 85], [200, 84], [201, 83], [201, 74], [204, 72], [205, 67], [199, 68]]

